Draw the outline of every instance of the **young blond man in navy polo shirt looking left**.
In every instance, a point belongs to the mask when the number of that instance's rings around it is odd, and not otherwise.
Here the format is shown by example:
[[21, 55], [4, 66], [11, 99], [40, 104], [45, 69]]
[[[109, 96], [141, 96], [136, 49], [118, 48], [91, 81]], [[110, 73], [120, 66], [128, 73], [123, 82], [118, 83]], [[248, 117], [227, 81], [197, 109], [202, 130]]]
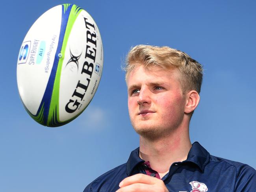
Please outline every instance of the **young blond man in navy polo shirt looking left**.
[[256, 192], [256, 171], [191, 144], [202, 66], [184, 52], [138, 45], [126, 64], [128, 110], [139, 148], [84, 192]]

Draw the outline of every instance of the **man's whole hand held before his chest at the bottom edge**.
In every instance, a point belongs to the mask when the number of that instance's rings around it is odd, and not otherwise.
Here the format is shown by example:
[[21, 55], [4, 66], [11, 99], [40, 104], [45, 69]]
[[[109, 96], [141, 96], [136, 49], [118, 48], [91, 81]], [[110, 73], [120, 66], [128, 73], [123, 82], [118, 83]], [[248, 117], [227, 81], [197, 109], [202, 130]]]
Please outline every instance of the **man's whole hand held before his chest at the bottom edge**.
[[116, 192], [169, 192], [161, 179], [145, 174], [126, 177]]

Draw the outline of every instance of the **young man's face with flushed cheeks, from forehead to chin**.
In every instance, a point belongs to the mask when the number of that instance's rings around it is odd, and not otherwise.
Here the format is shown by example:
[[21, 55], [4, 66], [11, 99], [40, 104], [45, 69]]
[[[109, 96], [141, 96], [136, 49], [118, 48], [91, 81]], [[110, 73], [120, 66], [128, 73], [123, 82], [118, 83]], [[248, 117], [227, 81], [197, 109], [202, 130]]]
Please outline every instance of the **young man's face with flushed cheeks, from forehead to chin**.
[[135, 131], [147, 138], [167, 136], [180, 126], [186, 105], [177, 69], [137, 65], [127, 79], [128, 110]]

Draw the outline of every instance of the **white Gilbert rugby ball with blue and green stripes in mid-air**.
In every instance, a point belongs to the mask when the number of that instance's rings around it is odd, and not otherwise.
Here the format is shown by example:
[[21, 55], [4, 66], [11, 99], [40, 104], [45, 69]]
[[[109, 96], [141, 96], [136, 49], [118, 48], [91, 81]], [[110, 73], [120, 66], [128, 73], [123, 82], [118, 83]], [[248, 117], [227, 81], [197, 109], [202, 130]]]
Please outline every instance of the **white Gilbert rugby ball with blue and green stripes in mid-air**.
[[102, 40], [93, 18], [74, 4], [49, 9], [19, 51], [17, 83], [26, 111], [44, 126], [69, 123], [91, 102], [102, 67]]

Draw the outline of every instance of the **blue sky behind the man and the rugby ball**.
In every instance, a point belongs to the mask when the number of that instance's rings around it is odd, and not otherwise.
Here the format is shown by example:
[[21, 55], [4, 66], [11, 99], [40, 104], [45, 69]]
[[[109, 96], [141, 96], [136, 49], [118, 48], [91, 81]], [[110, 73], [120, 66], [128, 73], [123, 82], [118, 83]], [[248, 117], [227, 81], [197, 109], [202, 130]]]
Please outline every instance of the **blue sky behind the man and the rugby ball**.
[[[104, 70], [87, 109], [65, 126], [48, 128], [22, 106], [17, 57], [33, 22], [63, 3], [77, 4], [96, 21]], [[256, 168], [255, 1], [27, 0], [5, 1], [1, 7], [1, 192], [82, 192], [127, 161], [139, 137], [130, 124], [120, 66], [137, 44], [170, 46], [204, 66], [191, 142]]]

